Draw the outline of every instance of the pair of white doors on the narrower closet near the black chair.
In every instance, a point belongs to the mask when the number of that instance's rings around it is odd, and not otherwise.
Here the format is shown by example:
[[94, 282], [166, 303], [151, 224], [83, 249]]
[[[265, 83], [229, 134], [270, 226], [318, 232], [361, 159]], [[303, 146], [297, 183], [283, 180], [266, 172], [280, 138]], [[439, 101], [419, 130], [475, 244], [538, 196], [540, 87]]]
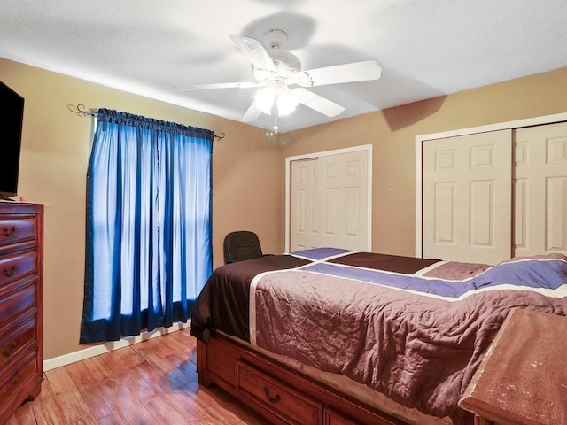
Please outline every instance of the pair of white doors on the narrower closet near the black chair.
[[369, 250], [369, 152], [291, 162], [290, 251]]

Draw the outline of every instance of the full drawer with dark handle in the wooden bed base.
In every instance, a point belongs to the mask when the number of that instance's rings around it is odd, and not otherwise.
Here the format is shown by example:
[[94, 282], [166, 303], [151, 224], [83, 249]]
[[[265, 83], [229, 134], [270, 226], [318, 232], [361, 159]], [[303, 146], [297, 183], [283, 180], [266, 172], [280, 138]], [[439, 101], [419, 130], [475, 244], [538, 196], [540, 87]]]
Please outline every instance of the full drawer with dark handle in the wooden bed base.
[[250, 365], [237, 361], [237, 390], [244, 392], [261, 405], [282, 417], [284, 421], [300, 425], [319, 425], [322, 404]]

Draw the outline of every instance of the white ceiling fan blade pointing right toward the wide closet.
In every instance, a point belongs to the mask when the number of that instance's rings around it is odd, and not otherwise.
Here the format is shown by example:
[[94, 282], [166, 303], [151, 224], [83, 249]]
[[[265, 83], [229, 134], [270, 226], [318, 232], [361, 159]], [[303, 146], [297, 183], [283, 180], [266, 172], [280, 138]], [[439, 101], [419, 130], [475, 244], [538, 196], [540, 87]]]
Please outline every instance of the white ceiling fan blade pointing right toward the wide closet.
[[382, 68], [374, 60], [352, 64], [325, 66], [296, 73], [290, 83], [303, 87], [324, 86], [341, 82], [370, 81], [380, 78]]

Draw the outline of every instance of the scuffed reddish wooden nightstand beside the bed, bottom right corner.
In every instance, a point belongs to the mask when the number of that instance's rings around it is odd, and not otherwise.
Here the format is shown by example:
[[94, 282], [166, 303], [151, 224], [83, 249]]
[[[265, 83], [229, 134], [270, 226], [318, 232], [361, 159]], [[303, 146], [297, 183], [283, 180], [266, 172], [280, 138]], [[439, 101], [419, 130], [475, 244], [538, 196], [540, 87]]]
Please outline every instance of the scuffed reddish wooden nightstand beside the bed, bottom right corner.
[[513, 309], [459, 406], [477, 425], [567, 424], [567, 317]]

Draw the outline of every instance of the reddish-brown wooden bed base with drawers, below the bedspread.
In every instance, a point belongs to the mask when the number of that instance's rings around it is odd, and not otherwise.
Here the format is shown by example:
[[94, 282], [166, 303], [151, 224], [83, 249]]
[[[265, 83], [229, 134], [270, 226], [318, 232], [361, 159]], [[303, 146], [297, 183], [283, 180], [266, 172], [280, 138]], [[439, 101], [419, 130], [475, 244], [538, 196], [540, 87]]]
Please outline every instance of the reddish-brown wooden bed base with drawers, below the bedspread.
[[198, 382], [216, 384], [275, 424], [405, 425], [219, 333], [197, 340]]

